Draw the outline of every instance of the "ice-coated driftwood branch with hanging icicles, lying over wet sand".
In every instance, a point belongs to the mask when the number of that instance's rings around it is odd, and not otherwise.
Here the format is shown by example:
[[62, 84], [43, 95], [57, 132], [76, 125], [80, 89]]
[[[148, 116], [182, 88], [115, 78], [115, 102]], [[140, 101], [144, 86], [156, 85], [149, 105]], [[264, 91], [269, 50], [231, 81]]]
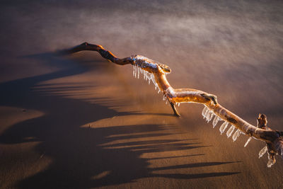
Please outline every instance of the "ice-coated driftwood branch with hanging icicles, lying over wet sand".
[[233, 133], [232, 137], [234, 141], [240, 134], [248, 135], [249, 138], [245, 147], [252, 138], [266, 142], [266, 147], [260, 151], [259, 155], [261, 157], [267, 151], [269, 158], [268, 167], [275, 164], [275, 154], [283, 157], [283, 132], [267, 127], [267, 118], [265, 115], [259, 115], [257, 127], [250, 125], [250, 123], [221, 106], [217, 102], [217, 97], [213, 94], [192, 88], [173, 88], [166, 79], [166, 74], [171, 72], [170, 67], [140, 55], [120, 59], [113, 55], [112, 52], [105, 50], [101, 45], [92, 45], [88, 42], [83, 42], [81, 45], [64, 51], [64, 53], [69, 54], [83, 50], [97, 51], [102, 57], [115, 64], [132, 64], [134, 76], [139, 77], [141, 73], [144, 74], [144, 79], [149, 79], [149, 82], [152, 81], [156, 88], [158, 88], [158, 92], [163, 93], [163, 100], [167, 100], [171, 103], [175, 115], [180, 116], [175, 107], [177, 104], [201, 103], [204, 105], [202, 115], [208, 122], [215, 116], [212, 122], [214, 127], [219, 120], [224, 120], [224, 123], [219, 129], [221, 134], [226, 130], [228, 125], [231, 124], [231, 127], [226, 132], [227, 137], [230, 137], [235, 129], [236, 132]]

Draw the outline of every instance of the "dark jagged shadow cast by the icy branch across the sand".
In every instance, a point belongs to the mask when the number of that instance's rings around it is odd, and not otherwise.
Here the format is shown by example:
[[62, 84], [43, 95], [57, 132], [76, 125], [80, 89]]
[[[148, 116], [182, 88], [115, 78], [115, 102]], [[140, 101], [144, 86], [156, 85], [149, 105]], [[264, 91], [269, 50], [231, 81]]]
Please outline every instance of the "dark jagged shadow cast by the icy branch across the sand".
[[[59, 71], [8, 81], [0, 84], [2, 90], [0, 105], [21, 107], [26, 110], [40, 110], [44, 115], [19, 122], [9, 127], [0, 136], [1, 144], [19, 144], [40, 142], [35, 147], [38, 154], [52, 159], [44, 171], [25, 178], [18, 183], [20, 188], [91, 188], [104, 185], [131, 183], [139, 178], [207, 178], [230, 176], [238, 172], [212, 172], [200, 174], [159, 174], [154, 171], [173, 168], [195, 168], [220, 166], [237, 162], [202, 162], [179, 166], [149, 168], [149, 160], [141, 158], [144, 153], [158, 151], [190, 150], [202, 145], [197, 139], [151, 139], [140, 141], [144, 137], [163, 137], [169, 133], [171, 125], [127, 125], [113, 127], [81, 127], [88, 122], [112, 118], [121, 115], [138, 115], [132, 112], [117, 112], [108, 106], [88, 103], [78, 99], [38, 92], [33, 86], [42, 81], [82, 74], [88, 70], [77, 62], [54, 57], [52, 53], [32, 56], [43, 59], [47, 64], [57, 64]], [[95, 59], [93, 62], [101, 62]], [[91, 69], [100, 69], [103, 64], [92, 64]], [[97, 84], [99, 85], [99, 84]], [[76, 88], [76, 90], [81, 90]], [[57, 90], [69, 88], [57, 88]], [[72, 90], [74, 88], [71, 88]], [[99, 98], [98, 98], [99, 101]], [[146, 132], [146, 134], [144, 134]], [[138, 139], [138, 142], [111, 144], [120, 139]], [[108, 144], [110, 143], [110, 144]], [[183, 156], [204, 156], [187, 154]], [[159, 157], [171, 159], [175, 156]], [[37, 164], [37, 162], [35, 162]]]

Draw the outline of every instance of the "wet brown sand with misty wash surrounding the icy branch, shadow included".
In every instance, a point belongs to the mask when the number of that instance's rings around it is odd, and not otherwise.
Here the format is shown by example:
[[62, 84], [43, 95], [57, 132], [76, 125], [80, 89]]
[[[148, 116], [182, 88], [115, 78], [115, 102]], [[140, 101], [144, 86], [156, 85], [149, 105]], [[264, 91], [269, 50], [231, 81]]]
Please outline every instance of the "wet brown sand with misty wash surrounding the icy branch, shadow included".
[[282, 188], [264, 142], [236, 142], [202, 119], [181, 118], [154, 91], [81, 42], [118, 57], [144, 55], [256, 125], [283, 130], [280, 1], [6, 1], [1, 6], [1, 188]]

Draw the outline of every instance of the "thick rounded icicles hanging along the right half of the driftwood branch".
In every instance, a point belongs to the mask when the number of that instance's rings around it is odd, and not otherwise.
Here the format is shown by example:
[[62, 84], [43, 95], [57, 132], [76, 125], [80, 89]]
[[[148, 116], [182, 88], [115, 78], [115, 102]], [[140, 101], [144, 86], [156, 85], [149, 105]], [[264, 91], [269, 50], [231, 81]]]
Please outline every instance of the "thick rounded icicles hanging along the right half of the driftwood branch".
[[[202, 116], [204, 119], [207, 120], [207, 122], [211, 121], [212, 118], [214, 117], [214, 113], [209, 110], [209, 108], [207, 108], [206, 105], [204, 105], [204, 109], [202, 110]], [[217, 125], [217, 123], [222, 120], [221, 118], [219, 118], [219, 116], [215, 115], [213, 121], [212, 121], [212, 125], [213, 125], [213, 128]], [[226, 122], [224, 121], [222, 123], [222, 125], [219, 127], [219, 131], [221, 134], [223, 134], [226, 130], [226, 128], [229, 126], [229, 122]], [[233, 125], [231, 125], [231, 127], [229, 128], [229, 130], [226, 132], [226, 135], [227, 137], [231, 137], [233, 131], [235, 130], [235, 127]], [[236, 132], [234, 132], [233, 136], [232, 136], [232, 139], [233, 139], [233, 142], [236, 141], [236, 139], [238, 139], [238, 137], [240, 136], [240, 134], [244, 134], [243, 132], [241, 132], [241, 130], [236, 130]], [[248, 143], [250, 142], [250, 140], [252, 139], [252, 137], [249, 137], [246, 144], [244, 145], [244, 147], [246, 147], [248, 145]], [[258, 158], [261, 158], [265, 153], [267, 152], [267, 147], [265, 146], [264, 148], [262, 148], [260, 150], [260, 153], [259, 153], [259, 157]], [[274, 162], [272, 161], [272, 159], [270, 159], [270, 156], [268, 156], [268, 163], [267, 163], [267, 167], [271, 167], [272, 165], [274, 164]]]

